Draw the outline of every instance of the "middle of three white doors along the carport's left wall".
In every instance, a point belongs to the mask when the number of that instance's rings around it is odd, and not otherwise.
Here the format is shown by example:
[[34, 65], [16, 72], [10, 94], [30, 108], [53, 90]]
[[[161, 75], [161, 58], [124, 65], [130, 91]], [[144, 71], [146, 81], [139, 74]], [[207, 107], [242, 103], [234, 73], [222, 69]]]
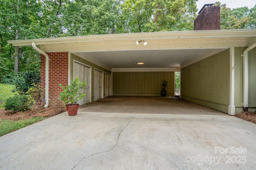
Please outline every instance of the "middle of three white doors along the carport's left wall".
[[102, 99], [103, 96], [103, 72], [94, 70], [94, 101]]

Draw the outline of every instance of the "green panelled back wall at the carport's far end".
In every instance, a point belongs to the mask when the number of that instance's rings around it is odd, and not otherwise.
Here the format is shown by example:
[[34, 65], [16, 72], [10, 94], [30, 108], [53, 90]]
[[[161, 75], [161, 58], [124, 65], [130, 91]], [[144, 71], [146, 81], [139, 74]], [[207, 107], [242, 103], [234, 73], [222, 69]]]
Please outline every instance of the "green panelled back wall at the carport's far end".
[[114, 96], [161, 96], [161, 80], [168, 81], [167, 96], [174, 96], [174, 72], [113, 72]]

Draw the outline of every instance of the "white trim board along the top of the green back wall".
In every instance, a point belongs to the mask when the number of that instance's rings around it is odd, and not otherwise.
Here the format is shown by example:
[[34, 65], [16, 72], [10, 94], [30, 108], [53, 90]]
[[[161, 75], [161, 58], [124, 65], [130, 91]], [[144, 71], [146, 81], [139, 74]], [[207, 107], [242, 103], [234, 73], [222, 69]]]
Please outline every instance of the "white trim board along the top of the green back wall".
[[112, 68], [112, 72], [175, 72], [180, 68]]

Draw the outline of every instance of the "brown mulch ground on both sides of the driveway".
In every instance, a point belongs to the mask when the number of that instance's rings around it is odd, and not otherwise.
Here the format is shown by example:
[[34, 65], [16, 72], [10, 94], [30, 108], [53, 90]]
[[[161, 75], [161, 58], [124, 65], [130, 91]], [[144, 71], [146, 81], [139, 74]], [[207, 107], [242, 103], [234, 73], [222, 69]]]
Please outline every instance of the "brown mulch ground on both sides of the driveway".
[[[0, 109], [0, 119], [28, 119], [32, 117], [52, 117], [54, 115], [58, 115], [60, 113], [65, 112], [66, 109], [60, 108], [60, 107], [47, 107], [44, 108], [35, 108], [28, 111], [22, 111], [17, 113], [12, 113], [12, 111], [8, 110], [5, 111], [4, 109]], [[235, 115], [236, 117], [240, 119], [244, 119], [246, 121], [249, 121], [251, 123], [256, 124], [256, 111], [254, 113], [252, 112], [243, 112]]]

